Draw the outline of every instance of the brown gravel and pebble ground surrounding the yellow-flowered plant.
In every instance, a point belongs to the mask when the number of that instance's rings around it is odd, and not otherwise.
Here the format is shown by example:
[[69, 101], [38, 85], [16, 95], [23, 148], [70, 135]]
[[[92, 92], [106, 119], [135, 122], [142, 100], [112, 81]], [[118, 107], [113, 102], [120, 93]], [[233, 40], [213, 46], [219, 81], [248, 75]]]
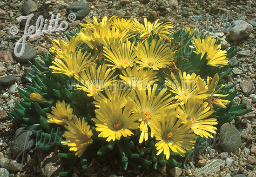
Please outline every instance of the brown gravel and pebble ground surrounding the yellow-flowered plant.
[[[58, 167], [54, 167], [54, 165], [60, 161], [56, 157], [57, 149], [54, 151], [26, 151], [23, 158], [17, 159], [18, 163], [13, 161], [15, 156], [12, 156], [14, 139], [22, 141], [24, 137], [22, 139], [22, 136], [16, 131], [21, 125], [8, 118], [5, 111], [15, 107], [14, 101], [21, 99], [17, 87], [24, 88], [24, 76], [28, 72], [33, 73], [27, 61], [12, 57], [14, 44], [24, 32], [24, 22], [20, 23], [18, 18], [22, 15], [22, 7], [25, 2], [25, 0], [1, 0], [0, 2], [0, 166], [4, 167], [0, 169], [0, 176], [56, 176], [53, 171]], [[45, 19], [50, 19], [51, 14], [60, 13], [61, 20], [66, 20], [69, 24], [68, 30], [75, 31], [76, 26], [81, 22], [81, 20], [69, 21], [67, 19], [66, 7], [75, 2], [74, 0], [34, 0], [34, 2], [32, 5], [30, 4], [33, 7], [30, 12], [43, 14]], [[87, 171], [81, 171], [79, 165], [74, 167], [72, 177], [185, 177], [199, 174], [209, 177], [256, 176], [256, 2], [253, 0], [88, 0], [88, 3], [89, 19], [95, 15], [100, 18], [106, 15], [108, 17], [116, 15], [128, 19], [146, 17], [150, 21], [159, 18], [162, 22], [172, 22], [174, 30], [178, 30], [182, 26], [195, 27], [198, 25], [201, 26], [200, 29], [213, 32], [215, 33], [213, 35], [222, 39], [223, 49], [236, 46], [238, 53], [230, 61], [234, 70], [226, 78], [227, 85], [237, 84], [238, 94], [234, 103], [246, 103], [246, 108], [252, 108], [252, 112], [236, 117], [231, 122], [230, 126], [235, 125], [235, 128], [232, 129], [233, 131], [229, 130], [230, 134], [237, 133], [239, 138], [241, 137], [241, 142], [237, 141], [232, 146], [238, 147], [236, 152], [227, 152], [232, 147], [223, 151], [224, 148], [218, 144], [219, 138], [216, 136], [215, 141], [208, 142], [208, 148], [201, 152], [195, 150], [193, 156], [185, 159], [181, 168], [171, 168], [167, 165], [166, 167], [160, 166], [157, 170], [145, 168], [124, 171], [117, 161], [115, 169], [109, 164], [99, 164], [93, 161]], [[249, 32], [245, 36], [235, 36], [235, 34], [229, 33], [231, 22], [234, 20], [243, 20], [242, 26], [248, 26], [246, 30]], [[225, 24], [220, 23], [221, 21], [226, 24], [226, 27]], [[19, 33], [10, 34], [9, 30], [12, 26], [17, 26]], [[66, 40], [65, 33], [67, 32], [36, 36], [27, 40], [27, 44], [34, 48], [36, 59], [40, 61], [38, 55], [42, 51], [47, 52], [48, 48], [52, 46], [53, 39]], [[235, 37], [242, 39], [234, 41]], [[29, 53], [33, 55], [33, 52]], [[3, 78], [6, 79], [5, 82]], [[182, 159], [180, 160], [182, 161]], [[7, 165], [7, 162], [10, 165]], [[21, 163], [25, 165], [20, 165]]]

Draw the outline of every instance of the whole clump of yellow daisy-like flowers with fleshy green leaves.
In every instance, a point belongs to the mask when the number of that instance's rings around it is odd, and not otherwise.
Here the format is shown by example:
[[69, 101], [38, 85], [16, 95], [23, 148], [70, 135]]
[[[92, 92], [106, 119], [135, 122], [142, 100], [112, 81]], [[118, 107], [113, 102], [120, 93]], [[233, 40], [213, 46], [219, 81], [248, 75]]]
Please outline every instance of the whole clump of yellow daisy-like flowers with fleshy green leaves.
[[[90, 159], [117, 154], [124, 169], [157, 168], [165, 159], [179, 166], [173, 156], [186, 156], [198, 139], [213, 138], [217, 124], [249, 112], [232, 105], [235, 85], [223, 80], [234, 47], [221, 50], [198, 29], [174, 32], [158, 20], [85, 21], [68, 41], [54, 40], [41, 56], [45, 65], [29, 63], [36, 74], [26, 77], [24, 101], [9, 113], [47, 142], [58, 140], [67, 168], [77, 157], [86, 169]], [[36, 145], [53, 146], [43, 142]]]

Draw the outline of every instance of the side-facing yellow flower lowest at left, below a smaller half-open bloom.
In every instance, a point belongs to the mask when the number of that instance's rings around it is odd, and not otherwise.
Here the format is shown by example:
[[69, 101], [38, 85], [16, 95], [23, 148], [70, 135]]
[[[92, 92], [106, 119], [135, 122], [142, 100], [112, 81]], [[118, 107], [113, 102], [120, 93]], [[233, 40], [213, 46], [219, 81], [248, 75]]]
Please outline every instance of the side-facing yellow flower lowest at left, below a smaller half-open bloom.
[[65, 131], [63, 137], [66, 141], [61, 141], [61, 144], [68, 145], [70, 151], [76, 151], [75, 155], [81, 157], [86, 148], [92, 144], [91, 139], [93, 132], [90, 130], [90, 125], [84, 118], [77, 118], [74, 116], [74, 122], [69, 121], [64, 127], [68, 130]]

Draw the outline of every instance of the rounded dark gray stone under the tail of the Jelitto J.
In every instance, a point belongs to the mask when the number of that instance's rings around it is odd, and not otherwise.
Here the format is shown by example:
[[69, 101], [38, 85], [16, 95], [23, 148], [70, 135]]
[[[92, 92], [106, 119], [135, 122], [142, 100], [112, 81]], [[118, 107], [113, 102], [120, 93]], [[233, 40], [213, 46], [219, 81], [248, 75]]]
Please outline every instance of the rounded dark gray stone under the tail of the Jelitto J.
[[[21, 50], [21, 44], [18, 46], [17, 52], [20, 52], [20, 50]], [[24, 52], [20, 57], [16, 56], [14, 53], [13, 53], [13, 56], [17, 61], [19, 61], [21, 63], [27, 63], [27, 61], [30, 61], [35, 58], [36, 52], [35, 52], [34, 48], [32, 48], [31, 46], [28, 46], [26, 44]]]

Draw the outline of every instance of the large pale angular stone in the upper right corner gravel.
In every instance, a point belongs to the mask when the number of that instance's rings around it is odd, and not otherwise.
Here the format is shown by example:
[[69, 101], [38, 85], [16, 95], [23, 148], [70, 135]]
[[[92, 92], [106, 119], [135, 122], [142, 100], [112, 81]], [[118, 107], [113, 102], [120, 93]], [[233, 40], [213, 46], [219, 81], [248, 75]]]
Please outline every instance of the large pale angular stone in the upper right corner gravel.
[[253, 30], [252, 25], [243, 20], [236, 20], [232, 23], [232, 28], [229, 30], [230, 39], [233, 41], [240, 40], [249, 36]]

